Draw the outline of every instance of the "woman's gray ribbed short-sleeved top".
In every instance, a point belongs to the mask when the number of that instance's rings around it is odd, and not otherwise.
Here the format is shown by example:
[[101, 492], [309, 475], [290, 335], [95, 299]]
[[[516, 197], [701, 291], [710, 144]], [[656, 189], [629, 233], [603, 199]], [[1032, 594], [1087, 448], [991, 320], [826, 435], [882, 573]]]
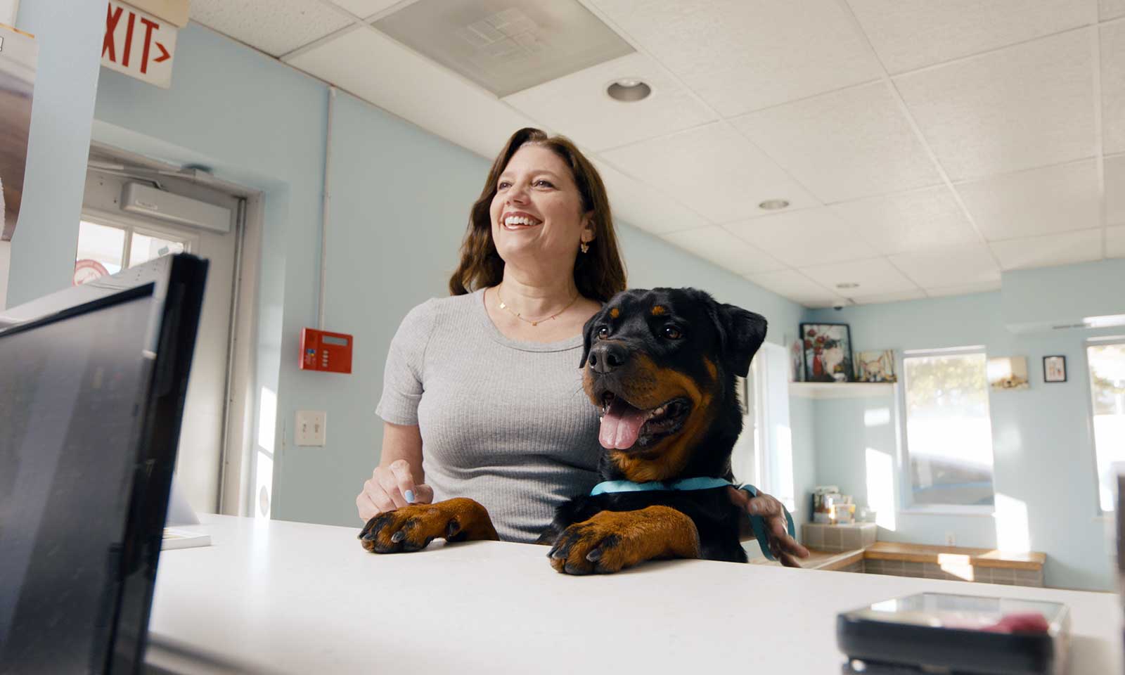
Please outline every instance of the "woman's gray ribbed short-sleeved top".
[[434, 500], [471, 497], [501, 539], [534, 541], [555, 508], [597, 484], [597, 411], [582, 390], [582, 335], [508, 340], [484, 291], [428, 300], [403, 320], [376, 414], [417, 424]]

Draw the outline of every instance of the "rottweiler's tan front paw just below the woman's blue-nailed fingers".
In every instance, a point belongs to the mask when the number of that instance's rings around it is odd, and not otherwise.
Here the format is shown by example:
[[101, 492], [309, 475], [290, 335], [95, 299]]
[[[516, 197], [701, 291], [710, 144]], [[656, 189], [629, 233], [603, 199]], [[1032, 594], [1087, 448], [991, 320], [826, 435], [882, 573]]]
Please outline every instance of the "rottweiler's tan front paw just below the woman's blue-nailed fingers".
[[500, 541], [488, 511], [465, 497], [436, 504], [407, 504], [367, 521], [359, 533], [372, 554], [397, 554], [424, 549], [433, 539]]

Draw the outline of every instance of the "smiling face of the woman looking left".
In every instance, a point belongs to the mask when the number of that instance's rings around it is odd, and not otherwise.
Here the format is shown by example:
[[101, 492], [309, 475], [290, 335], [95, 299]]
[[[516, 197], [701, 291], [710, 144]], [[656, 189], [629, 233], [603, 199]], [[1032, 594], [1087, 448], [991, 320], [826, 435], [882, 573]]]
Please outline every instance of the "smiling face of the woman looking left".
[[489, 213], [493, 241], [505, 262], [573, 269], [583, 231], [586, 241], [593, 237], [570, 168], [539, 145], [524, 145], [508, 160]]

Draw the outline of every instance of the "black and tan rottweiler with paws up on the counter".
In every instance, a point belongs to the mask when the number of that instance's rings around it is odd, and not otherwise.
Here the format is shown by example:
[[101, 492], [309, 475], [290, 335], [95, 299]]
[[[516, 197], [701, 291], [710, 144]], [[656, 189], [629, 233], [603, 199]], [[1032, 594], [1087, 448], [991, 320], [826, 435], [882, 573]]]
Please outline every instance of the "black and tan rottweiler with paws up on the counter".
[[[557, 572], [613, 573], [655, 558], [746, 562], [746, 514], [726, 486], [666, 488], [734, 480], [742, 431], [735, 376], [747, 376], [765, 334], [760, 315], [694, 288], [619, 292], [586, 322], [579, 367], [602, 411], [598, 469], [611, 492], [558, 508], [538, 542], [551, 547]], [[372, 552], [414, 551], [434, 538], [498, 539], [484, 506], [467, 498], [388, 511], [360, 532]]]

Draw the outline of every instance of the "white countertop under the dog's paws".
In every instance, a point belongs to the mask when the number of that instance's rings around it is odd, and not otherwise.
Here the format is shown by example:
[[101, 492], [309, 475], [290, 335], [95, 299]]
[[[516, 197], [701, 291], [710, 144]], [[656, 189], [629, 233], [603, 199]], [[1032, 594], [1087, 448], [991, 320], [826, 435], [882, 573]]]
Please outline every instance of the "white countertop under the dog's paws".
[[161, 554], [150, 629], [267, 673], [839, 673], [836, 614], [919, 592], [1062, 602], [1071, 675], [1122, 672], [1107, 593], [709, 560], [557, 574], [546, 547], [364, 551], [357, 528], [205, 515]]

